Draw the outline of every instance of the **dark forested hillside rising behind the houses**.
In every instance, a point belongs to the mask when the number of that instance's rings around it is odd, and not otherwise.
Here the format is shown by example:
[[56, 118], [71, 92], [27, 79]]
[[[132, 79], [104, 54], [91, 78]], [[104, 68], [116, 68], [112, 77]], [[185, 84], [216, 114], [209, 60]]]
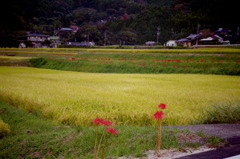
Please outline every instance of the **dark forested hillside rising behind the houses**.
[[76, 25], [67, 41], [98, 45], [176, 39], [200, 29], [240, 26], [234, 0], [7, 0], [0, 5], [0, 46], [17, 46], [26, 31], [54, 35]]

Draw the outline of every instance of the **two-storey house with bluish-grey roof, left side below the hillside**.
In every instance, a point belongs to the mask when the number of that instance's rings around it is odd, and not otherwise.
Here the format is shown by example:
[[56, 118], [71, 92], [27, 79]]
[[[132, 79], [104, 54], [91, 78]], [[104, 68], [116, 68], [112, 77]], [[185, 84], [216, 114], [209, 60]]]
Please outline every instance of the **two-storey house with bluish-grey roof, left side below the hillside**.
[[47, 47], [46, 41], [49, 40], [50, 35], [44, 34], [29, 34], [27, 36], [27, 40], [32, 42], [33, 47], [40, 48], [40, 47]]

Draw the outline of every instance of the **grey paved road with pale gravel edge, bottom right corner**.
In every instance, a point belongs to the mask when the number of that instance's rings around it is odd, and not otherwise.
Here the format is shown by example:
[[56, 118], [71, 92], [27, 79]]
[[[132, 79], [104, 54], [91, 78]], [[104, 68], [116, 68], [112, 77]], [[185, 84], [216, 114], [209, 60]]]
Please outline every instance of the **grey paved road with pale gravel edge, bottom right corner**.
[[219, 149], [202, 146], [197, 149], [185, 149], [183, 152], [176, 149], [161, 150], [160, 153], [155, 150], [149, 150], [146, 152], [147, 157], [120, 157], [118, 159], [222, 159], [240, 154], [240, 124], [178, 125], [166, 126], [165, 128], [203, 132], [207, 135], [225, 138], [228, 143]]

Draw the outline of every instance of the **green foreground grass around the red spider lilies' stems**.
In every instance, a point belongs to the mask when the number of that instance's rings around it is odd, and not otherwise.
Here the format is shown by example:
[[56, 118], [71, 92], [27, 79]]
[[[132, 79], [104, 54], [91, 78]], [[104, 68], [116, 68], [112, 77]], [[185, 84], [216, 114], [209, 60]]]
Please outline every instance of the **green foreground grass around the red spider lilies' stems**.
[[[64, 126], [2, 101], [0, 115], [11, 126], [11, 133], [0, 139], [0, 158], [93, 158], [96, 127]], [[155, 127], [114, 127], [120, 133], [108, 139], [106, 156], [140, 157], [146, 150], [156, 148]], [[164, 128], [162, 148], [183, 150], [202, 144], [217, 146], [223, 141], [200, 133], [194, 136], [204, 137], [204, 143], [180, 141], [176, 137], [178, 133], [189, 135], [188, 131]]]

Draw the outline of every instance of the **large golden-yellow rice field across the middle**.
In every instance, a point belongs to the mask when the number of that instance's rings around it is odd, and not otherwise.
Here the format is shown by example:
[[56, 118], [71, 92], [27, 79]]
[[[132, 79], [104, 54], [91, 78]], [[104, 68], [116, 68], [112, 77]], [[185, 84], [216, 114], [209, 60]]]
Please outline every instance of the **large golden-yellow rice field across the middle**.
[[194, 74], [100, 74], [0, 67], [0, 99], [65, 124], [102, 117], [122, 125], [196, 124], [213, 105], [240, 103], [240, 77]]

